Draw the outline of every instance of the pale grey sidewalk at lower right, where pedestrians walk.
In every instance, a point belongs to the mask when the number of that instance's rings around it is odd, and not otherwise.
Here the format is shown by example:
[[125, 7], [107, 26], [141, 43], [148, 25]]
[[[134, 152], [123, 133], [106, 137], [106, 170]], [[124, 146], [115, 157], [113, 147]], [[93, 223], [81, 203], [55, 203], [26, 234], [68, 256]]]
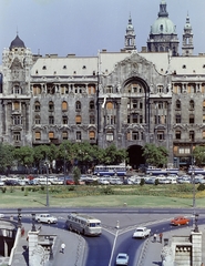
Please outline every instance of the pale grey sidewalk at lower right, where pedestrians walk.
[[[198, 226], [199, 231], [203, 233], [203, 238], [202, 238], [202, 262], [205, 263], [205, 227], [204, 225]], [[189, 227], [178, 227], [178, 229], [170, 231], [170, 232], [164, 232], [163, 233], [163, 242], [160, 243], [160, 237], [158, 234], [160, 232], [156, 232], [157, 238], [156, 242], [153, 242], [153, 236], [147, 238], [144, 243], [144, 247], [141, 253], [141, 259], [137, 263], [137, 266], [152, 266], [152, 265], [158, 265], [162, 266], [162, 258], [161, 258], [161, 252], [164, 246], [164, 238], [168, 238], [168, 245], [172, 242], [172, 236], [189, 236], [191, 231], [193, 228]]]

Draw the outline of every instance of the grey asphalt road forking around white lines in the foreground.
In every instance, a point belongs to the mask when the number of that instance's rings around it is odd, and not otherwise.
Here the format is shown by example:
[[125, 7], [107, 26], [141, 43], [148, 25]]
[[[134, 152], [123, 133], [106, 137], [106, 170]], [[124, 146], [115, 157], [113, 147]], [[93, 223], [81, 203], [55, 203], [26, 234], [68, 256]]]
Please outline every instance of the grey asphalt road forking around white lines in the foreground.
[[[127, 253], [130, 265], [136, 265], [144, 239], [133, 239], [132, 235], [139, 225], [146, 225], [152, 234], [168, 232], [178, 227], [170, 225], [170, 219], [177, 215], [192, 216], [193, 209], [173, 208], [33, 208], [22, 209], [22, 222], [31, 223], [31, 213], [49, 212], [58, 216], [58, 225], [64, 228], [64, 222], [69, 212], [89, 213], [102, 221], [103, 232], [99, 237], [83, 236], [86, 246], [83, 266], [114, 266], [117, 253]], [[17, 209], [0, 209], [8, 217], [17, 216]], [[195, 209], [199, 214], [198, 225], [205, 224], [205, 209]], [[119, 222], [119, 223], [117, 223]], [[116, 224], [120, 228], [116, 228]], [[189, 224], [192, 228], [193, 222]]]

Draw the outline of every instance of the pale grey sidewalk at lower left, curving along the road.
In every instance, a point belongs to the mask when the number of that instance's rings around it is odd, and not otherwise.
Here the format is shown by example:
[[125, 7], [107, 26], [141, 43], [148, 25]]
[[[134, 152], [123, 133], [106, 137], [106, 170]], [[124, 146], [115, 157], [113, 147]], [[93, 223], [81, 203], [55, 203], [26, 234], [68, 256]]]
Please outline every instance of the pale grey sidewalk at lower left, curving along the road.
[[[24, 236], [21, 237], [18, 248], [16, 250], [12, 266], [29, 266], [29, 250], [27, 234], [31, 229], [30, 224], [23, 224], [25, 229]], [[81, 235], [73, 234], [69, 231], [59, 229], [57, 227], [41, 225], [40, 234], [55, 234], [57, 241], [53, 246], [53, 259], [49, 260], [47, 266], [82, 266], [84, 239]], [[61, 244], [65, 244], [64, 254], [61, 253]]]

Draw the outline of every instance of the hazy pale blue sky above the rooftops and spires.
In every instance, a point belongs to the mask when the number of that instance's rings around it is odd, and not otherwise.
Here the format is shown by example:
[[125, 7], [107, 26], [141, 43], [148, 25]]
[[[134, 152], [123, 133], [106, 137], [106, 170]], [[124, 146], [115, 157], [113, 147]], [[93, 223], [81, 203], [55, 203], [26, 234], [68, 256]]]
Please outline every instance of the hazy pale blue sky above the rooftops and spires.
[[[0, 0], [0, 53], [19, 37], [32, 53], [96, 55], [120, 51], [131, 13], [136, 47], [146, 45], [161, 0]], [[194, 31], [194, 54], [205, 53], [205, 0], [166, 0], [170, 19], [182, 33], [187, 13]], [[1, 57], [0, 57], [1, 61]]]

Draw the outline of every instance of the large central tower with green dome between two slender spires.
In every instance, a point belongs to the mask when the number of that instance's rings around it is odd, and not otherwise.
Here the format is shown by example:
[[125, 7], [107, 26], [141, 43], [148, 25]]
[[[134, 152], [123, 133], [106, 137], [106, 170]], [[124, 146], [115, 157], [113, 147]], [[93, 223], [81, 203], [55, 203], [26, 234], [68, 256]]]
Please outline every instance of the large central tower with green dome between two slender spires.
[[166, 1], [161, 0], [158, 18], [151, 27], [150, 39], [147, 40], [148, 52], [167, 52], [172, 51], [172, 55], [178, 55], [178, 38], [176, 27], [168, 19], [166, 11]]

